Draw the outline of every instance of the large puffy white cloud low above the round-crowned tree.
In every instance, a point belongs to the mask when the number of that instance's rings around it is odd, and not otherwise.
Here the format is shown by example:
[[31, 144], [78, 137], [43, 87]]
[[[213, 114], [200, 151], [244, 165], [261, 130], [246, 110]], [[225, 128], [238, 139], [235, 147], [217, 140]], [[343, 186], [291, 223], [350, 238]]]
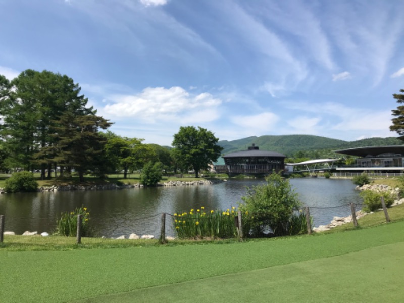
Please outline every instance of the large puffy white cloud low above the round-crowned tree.
[[222, 101], [210, 93], [190, 94], [182, 87], [147, 87], [137, 95], [115, 95], [103, 111], [108, 115], [131, 117], [153, 123], [161, 120], [213, 121], [219, 117]]

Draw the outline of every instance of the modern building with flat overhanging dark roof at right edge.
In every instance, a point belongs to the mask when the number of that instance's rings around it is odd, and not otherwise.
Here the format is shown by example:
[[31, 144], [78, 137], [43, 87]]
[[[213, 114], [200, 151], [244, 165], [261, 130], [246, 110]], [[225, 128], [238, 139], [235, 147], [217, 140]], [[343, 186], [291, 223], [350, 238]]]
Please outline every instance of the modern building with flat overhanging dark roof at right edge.
[[337, 167], [337, 171], [398, 172], [404, 170], [404, 145], [369, 146], [335, 150], [335, 153], [358, 157], [355, 165]]

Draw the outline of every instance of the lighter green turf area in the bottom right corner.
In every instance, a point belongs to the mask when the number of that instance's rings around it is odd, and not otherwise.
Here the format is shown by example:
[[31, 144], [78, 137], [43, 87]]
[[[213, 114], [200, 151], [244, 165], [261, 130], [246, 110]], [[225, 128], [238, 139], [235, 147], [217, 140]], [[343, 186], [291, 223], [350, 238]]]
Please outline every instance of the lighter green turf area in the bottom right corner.
[[81, 302], [402, 302], [403, 271], [404, 242], [400, 242]]

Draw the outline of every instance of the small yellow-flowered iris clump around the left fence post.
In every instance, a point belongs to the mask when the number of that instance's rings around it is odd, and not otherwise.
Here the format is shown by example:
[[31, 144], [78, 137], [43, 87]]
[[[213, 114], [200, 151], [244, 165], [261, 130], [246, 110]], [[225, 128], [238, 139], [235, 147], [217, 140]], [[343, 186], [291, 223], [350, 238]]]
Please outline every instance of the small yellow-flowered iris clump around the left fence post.
[[61, 236], [75, 237], [77, 235], [77, 215], [82, 215], [81, 236], [90, 236], [89, 224], [90, 211], [86, 207], [76, 208], [74, 212], [61, 213], [61, 218], [56, 221], [56, 233]]

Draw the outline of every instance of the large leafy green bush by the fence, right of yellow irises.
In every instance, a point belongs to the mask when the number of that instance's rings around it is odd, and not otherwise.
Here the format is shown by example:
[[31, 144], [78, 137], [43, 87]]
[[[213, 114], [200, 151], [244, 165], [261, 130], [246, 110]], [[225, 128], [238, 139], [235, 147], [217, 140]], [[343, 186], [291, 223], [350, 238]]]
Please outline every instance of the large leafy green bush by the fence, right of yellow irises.
[[242, 197], [245, 236], [284, 236], [290, 234], [290, 222], [301, 205], [289, 182], [273, 173], [266, 185], [247, 189]]

